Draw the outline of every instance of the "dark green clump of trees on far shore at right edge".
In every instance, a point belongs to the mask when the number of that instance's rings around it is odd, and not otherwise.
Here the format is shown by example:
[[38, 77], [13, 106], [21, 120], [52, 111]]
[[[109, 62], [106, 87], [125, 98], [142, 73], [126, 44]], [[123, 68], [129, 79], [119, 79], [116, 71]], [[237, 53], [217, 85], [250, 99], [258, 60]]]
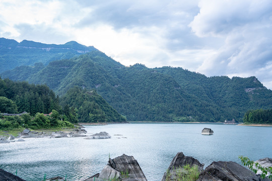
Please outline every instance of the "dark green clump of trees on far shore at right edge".
[[272, 124], [272, 109], [249, 110], [245, 113], [243, 121], [245, 124]]

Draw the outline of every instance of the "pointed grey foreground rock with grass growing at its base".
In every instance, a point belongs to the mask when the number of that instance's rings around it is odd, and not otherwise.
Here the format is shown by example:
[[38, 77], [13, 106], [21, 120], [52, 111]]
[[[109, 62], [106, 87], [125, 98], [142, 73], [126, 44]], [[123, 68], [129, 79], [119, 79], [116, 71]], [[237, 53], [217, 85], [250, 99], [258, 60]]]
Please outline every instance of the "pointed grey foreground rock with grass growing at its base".
[[162, 181], [165, 181], [167, 177], [169, 177], [168, 180], [175, 180], [177, 169], [182, 171], [181, 168], [186, 164], [189, 164], [190, 166], [197, 165], [199, 172], [203, 171], [203, 163], [201, 164], [197, 159], [191, 156], [185, 156], [182, 152], [179, 152], [171, 161], [170, 166], [168, 167], [168, 173], [164, 173]]

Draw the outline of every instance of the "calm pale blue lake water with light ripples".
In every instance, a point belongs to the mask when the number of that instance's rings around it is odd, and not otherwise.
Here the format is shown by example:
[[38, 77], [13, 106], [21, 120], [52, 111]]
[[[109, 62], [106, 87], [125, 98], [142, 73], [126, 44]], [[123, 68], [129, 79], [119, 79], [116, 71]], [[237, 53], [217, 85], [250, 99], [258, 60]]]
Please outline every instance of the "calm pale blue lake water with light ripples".
[[[201, 135], [203, 128], [214, 135]], [[133, 155], [148, 180], [161, 180], [177, 152], [208, 166], [213, 161], [272, 158], [272, 127], [217, 124], [116, 124], [86, 126], [88, 134], [108, 132], [111, 139], [29, 138], [0, 144], [0, 168], [26, 180], [67, 176], [84, 180], [100, 172], [111, 158]], [[120, 136], [122, 135], [122, 136]]]

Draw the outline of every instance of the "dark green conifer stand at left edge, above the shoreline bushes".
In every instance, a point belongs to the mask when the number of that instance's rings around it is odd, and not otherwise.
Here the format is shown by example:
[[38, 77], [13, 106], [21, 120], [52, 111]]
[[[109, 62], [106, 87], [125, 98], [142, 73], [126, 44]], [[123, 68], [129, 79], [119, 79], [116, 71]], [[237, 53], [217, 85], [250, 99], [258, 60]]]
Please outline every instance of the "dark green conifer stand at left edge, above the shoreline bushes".
[[[0, 102], [2, 113], [39, 113], [59, 111], [59, 98], [46, 85], [29, 84], [0, 77]], [[6, 103], [6, 104], [5, 104]], [[7, 104], [8, 103], [8, 104]], [[12, 109], [11, 109], [12, 108]]]

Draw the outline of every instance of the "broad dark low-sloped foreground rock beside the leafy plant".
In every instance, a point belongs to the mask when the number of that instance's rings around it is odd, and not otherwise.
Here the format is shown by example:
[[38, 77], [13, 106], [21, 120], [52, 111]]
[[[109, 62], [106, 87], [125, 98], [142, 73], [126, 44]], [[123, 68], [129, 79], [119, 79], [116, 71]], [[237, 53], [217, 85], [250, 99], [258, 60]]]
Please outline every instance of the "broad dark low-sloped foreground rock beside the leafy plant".
[[261, 179], [254, 172], [233, 161], [214, 161], [199, 174], [197, 181], [258, 181]]

